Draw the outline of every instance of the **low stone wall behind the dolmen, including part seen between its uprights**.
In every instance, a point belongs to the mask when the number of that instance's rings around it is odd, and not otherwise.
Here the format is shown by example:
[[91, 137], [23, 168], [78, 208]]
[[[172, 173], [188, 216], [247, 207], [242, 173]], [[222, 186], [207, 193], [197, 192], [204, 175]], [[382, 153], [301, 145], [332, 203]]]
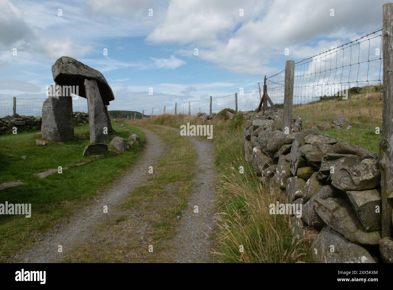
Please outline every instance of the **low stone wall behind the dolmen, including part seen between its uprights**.
[[[73, 112], [73, 126], [86, 124], [89, 122], [89, 114], [84, 112]], [[35, 131], [40, 130], [42, 124], [42, 118], [40, 116], [24, 116], [17, 115], [4, 116], [0, 118], [0, 135], [1, 134], [12, 134], [13, 127], [17, 127], [18, 132], [23, 131]]]

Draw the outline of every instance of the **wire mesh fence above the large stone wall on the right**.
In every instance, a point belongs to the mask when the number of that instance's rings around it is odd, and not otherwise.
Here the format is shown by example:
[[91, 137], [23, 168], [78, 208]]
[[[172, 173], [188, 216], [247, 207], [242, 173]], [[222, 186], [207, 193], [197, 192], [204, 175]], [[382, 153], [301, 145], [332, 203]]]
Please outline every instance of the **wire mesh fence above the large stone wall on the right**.
[[[292, 114], [303, 127], [377, 153], [382, 131], [382, 30], [295, 64]], [[266, 79], [284, 100], [285, 70]]]

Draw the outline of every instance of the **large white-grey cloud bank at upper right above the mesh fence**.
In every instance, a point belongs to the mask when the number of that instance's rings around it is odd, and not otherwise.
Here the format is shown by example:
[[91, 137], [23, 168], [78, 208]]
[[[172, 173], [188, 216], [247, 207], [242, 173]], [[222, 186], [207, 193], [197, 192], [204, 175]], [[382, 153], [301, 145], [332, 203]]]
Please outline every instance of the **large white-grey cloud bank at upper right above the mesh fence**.
[[[195, 57], [196, 47], [201, 59], [237, 74], [270, 75], [282, 69], [274, 63], [285, 58], [285, 48], [290, 49], [287, 58], [296, 59], [341, 44], [380, 22], [382, 4], [382, 0], [253, 0], [242, 4], [173, 0], [147, 41], [178, 44], [176, 53], [188, 57]], [[244, 9], [244, 17], [239, 17], [239, 8]], [[325, 39], [315, 41], [317, 37]]]

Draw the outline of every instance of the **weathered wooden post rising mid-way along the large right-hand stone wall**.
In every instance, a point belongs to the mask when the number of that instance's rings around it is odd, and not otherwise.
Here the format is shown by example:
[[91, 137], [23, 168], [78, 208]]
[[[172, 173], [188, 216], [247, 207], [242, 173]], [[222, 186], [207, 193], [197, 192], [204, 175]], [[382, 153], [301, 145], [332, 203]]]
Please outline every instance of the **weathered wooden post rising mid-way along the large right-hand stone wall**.
[[283, 112], [283, 132], [288, 127], [291, 131], [291, 119], [292, 119], [292, 96], [294, 93], [294, 73], [295, 73], [295, 62], [286, 61], [285, 63], [285, 87], [284, 87], [284, 112]]

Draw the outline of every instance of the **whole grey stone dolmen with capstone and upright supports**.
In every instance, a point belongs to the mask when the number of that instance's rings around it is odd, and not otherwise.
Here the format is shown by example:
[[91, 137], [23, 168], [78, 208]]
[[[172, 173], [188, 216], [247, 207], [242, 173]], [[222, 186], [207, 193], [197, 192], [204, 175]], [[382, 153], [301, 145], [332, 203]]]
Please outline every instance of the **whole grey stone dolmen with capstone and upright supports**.
[[62, 56], [52, 66], [55, 85], [48, 86], [48, 99], [42, 105], [42, 137], [51, 141], [74, 139], [72, 94], [87, 99], [90, 143], [108, 142], [112, 125], [108, 114], [115, 99], [105, 77], [76, 59]]

